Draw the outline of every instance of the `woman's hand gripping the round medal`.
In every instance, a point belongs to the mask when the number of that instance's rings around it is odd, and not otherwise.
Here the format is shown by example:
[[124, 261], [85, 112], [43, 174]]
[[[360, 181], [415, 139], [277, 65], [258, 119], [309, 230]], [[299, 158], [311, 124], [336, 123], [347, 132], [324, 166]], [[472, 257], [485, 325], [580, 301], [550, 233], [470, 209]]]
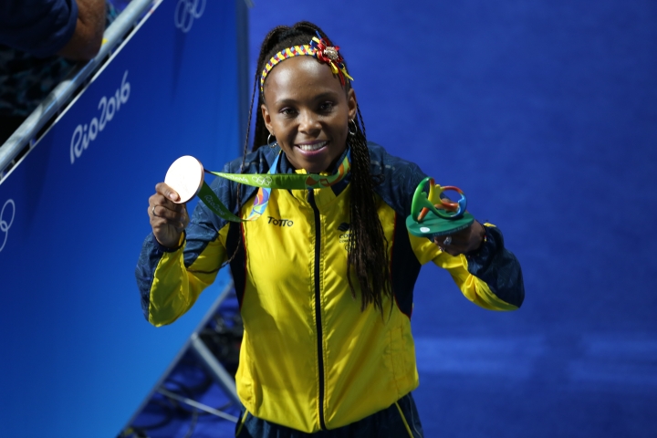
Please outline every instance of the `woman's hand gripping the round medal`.
[[179, 199], [178, 193], [165, 183], [158, 183], [155, 192], [149, 198], [148, 210], [153, 235], [160, 245], [177, 248], [183, 230], [189, 224], [187, 207], [184, 203], [173, 202]]

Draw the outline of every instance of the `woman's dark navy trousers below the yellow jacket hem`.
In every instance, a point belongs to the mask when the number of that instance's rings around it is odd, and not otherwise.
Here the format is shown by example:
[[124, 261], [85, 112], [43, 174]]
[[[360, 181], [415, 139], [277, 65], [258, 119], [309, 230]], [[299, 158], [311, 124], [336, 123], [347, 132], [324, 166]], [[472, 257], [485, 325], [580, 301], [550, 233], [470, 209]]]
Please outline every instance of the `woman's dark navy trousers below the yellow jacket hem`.
[[[358, 422], [318, 433], [299, 432], [274, 422], [266, 422], [248, 413], [242, 428], [240, 429], [240, 422], [235, 426], [235, 436], [237, 438], [422, 438], [424, 436], [422, 424], [411, 393], [401, 397], [397, 404], [411, 429], [412, 437], [395, 404]], [[244, 417], [244, 412], [242, 408], [240, 419]]]

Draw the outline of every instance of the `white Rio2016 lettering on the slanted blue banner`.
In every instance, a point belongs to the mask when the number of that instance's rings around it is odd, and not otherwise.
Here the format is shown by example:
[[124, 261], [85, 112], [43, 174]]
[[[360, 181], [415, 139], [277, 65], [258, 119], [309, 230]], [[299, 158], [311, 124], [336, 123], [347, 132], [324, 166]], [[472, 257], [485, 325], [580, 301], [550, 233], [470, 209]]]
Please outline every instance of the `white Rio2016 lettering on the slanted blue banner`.
[[130, 82], [126, 80], [127, 78], [128, 70], [123, 74], [120, 88], [116, 90], [114, 96], [111, 96], [110, 99], [103, 96], [103, 98], [100, 99], [98, 106], [98, 109], [100, 110], [100, 120], [94, 117], [89, 124], [85, 124], [84, 126], [78, 125], [73, 131], [70, 147], [71, 164], [73, 164], [76, 158], [79, 158], [80, 155], [82, 155], [82, 152], [89, 147], [91, 141], [96, 140], [99, 132], [105, 129], [105, 124], [112, 120], [114, 114], [120, 110], [121, 104], [126, 103], [128, 98], [130, 98]]

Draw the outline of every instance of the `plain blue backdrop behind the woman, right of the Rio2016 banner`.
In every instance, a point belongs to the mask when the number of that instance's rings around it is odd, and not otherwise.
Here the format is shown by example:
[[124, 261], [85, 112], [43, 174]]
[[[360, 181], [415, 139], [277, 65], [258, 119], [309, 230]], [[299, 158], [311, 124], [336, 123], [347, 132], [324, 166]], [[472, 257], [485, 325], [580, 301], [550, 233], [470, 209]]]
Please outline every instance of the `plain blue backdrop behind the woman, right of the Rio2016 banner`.
[[368, 138], [463, 188], [524, 268], [509, 314], [422, 270], [425, 436], [657, 436], [655, 3], [260, 1], [251, 59], [302, 19], [341, 47]]

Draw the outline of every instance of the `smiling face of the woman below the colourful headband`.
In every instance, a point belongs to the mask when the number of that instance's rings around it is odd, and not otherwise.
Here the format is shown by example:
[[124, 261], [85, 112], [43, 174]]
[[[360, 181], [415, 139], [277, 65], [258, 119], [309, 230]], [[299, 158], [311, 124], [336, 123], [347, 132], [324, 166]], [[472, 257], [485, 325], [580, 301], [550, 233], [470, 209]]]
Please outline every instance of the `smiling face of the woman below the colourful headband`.
[[347, 147], [356, 95], [314, 57], [291, 57], [265, 81], [261, 110], [267, 130], [297, 169], [326, 171]]

